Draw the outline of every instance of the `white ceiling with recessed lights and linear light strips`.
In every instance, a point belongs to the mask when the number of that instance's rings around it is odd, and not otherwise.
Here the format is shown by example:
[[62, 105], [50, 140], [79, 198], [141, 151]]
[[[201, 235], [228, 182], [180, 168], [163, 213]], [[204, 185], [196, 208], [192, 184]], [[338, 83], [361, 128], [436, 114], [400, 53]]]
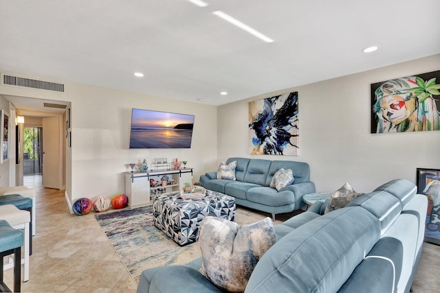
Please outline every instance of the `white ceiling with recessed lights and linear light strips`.
[[0, 0], [0, 70], [221, 105], [440, 53], [439, 0], [204, 1]]

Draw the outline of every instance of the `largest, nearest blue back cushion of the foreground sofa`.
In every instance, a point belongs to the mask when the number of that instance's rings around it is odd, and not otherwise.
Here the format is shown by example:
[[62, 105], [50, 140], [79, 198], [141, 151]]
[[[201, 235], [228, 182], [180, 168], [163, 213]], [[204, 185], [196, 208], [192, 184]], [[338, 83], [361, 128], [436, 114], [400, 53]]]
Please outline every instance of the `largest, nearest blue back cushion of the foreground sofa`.
[[322, 215], [267, 250], [245, 292], [337, 292], [379, 238], [379, 221], [360, 207]]

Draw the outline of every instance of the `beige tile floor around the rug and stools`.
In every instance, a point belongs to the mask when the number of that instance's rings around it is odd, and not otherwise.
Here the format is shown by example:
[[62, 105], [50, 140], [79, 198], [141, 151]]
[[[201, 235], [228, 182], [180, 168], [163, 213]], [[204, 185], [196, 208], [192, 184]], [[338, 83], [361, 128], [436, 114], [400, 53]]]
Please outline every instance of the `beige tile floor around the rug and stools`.
[[[43, 188], [41, 176], [25, 176], [24, 185], [37, 195], [30, 281], [21, 284], [22, 292], [135, 292], [136, 283], [93, 213], [71, 215], [64, 191]], [[439, 259], [440, 246], [423, 246], [414, 292], [439, 292]], [[5, 281], [12, 284], [12, 270]]]

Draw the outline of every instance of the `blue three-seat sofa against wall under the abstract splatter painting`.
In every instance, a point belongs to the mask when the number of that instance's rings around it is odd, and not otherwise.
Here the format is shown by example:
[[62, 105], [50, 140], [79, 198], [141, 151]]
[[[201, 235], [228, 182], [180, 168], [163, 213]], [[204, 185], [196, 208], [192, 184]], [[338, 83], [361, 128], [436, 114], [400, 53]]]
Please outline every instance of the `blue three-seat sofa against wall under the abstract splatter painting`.
[[[236, 180], [217, 179], [217, 172], [200, 176], [206, 189], [233, 196], [236, 204], [266, 213], [289, 213], [303, 207], [303, 196], [315, 192], [310, 181], [309, 164], [295, 161], [270, 161], [262, 159], [229, 158], [226, 164], [236, 161]], [[294, 183], [277, 191], [270, 187], [275, 172], [292, 169]]]

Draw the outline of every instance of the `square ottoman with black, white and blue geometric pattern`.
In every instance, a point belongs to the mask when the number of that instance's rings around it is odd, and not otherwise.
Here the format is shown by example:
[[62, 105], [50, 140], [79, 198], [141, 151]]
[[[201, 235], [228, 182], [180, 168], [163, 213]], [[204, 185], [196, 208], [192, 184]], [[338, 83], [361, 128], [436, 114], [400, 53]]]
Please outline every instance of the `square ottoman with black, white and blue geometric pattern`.
[[200, 199], [184, 200], [180, 191], [173, 191], [153, 200], [155, 226], [180, 246], [197, 240], [200, 222], [207, 215], [233, 222], [235, 209], [235, 198], [211, 190]]

